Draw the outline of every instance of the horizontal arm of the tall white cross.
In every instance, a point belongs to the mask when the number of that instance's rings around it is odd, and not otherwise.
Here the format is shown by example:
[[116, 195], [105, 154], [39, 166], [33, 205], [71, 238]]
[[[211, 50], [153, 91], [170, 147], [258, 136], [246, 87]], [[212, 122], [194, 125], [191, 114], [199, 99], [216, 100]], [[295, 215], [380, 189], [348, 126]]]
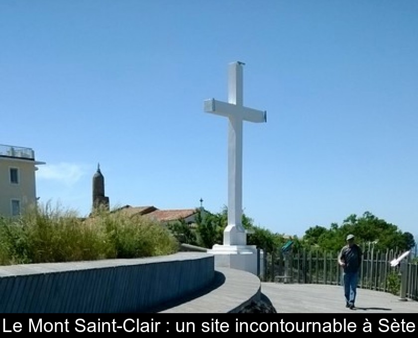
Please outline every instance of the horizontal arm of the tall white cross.
[[237, 117], [250, 122], [267, 122], [267, 112], [232, 103], [215, 100], [214, 98], [204, 101], [204, 110], [207, 113], [226, 117]]

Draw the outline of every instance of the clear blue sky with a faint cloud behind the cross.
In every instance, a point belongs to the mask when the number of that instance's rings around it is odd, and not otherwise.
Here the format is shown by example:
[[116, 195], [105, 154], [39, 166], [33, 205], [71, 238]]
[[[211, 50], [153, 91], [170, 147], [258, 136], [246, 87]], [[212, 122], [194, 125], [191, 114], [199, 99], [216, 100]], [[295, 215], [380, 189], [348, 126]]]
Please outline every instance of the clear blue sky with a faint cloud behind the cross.
[[301, 236], [370, 211], [418, 235], [418, 1], [2, 0], [0, 143], [41, 202], [227, 203], [227, 66], [242, 61], [243, 208]]

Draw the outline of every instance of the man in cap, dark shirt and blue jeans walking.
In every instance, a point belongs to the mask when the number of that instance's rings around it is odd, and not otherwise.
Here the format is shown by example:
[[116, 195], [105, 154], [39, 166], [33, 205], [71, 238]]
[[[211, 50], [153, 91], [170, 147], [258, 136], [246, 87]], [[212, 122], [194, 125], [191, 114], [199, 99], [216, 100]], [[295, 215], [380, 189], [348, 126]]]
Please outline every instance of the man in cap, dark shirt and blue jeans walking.
[[338, 255], [338, 263], [344, 270], [345, 307], [354, 309], [358, 272], [360, 270], [363, 254], [360, 247], [354, 243], [354, 235], [348, 235], [346, 241], [347, 245], [341, 249]]

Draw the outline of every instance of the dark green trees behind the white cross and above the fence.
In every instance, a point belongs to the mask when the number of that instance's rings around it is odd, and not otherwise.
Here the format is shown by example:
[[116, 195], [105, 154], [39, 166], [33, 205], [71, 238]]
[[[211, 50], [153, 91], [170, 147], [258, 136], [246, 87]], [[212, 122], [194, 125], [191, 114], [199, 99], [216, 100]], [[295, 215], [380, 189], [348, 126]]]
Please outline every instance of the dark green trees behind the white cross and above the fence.
[[[226, 225], [227, 208], [223, 207], [219, 213], [200, 215], [195, 229], [180, 221], [170, 225], [170, 228], [182, 243], [211, 248], [214, 244], [222, 244], [222, 234]], [[299, 238], [255, 226], [253, 220], [245, 214], [242, 215], [242, 225], [245, 229], [253, 230], [253, 234], [248, 235], [247, 243], [256, 245], [268, 253], [279, 250], [289, 239], [294, 242], [296, 250], [338, 252], [346, 244], [345, 238], [348, 234], [354, 234], [357, 244], [365, 250], [372, 247], [375, 251], [406, 251], [414, 248], [416, 244], [411, 233], [402, 232], [397, 225], [388, 223], [368, 211], [360, 217], [351, 214], [341, 224], [307, 227], [304, 236]]]

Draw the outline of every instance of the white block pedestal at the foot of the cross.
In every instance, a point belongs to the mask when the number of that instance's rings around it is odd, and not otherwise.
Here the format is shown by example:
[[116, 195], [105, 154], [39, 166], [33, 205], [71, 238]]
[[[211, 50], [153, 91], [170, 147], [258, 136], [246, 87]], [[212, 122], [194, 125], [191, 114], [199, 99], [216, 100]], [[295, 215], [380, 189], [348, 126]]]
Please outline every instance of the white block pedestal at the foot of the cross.
[[[208, 254], [213, 254], [215, 267], [229, 267], [248, 271], [258, 276], [258, 260], [256, 246], [234, 246], [215, 244]], [[262, 258], [262, 257], [261, 257]]]

